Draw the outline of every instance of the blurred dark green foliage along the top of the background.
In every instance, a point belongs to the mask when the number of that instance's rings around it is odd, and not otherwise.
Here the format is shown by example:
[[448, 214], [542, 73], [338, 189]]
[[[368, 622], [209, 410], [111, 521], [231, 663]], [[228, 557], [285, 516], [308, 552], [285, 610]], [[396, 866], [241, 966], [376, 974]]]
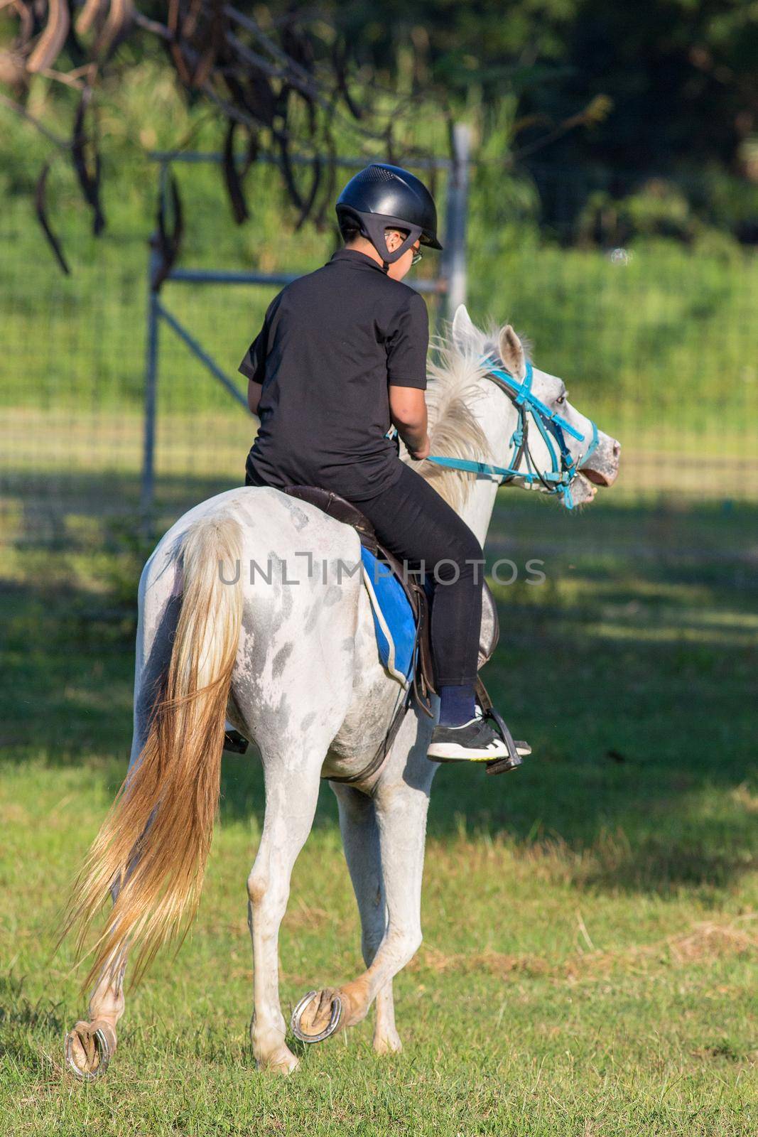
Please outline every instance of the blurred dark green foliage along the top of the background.
[[[284, 0], [239, 7], [269, 30], [291, 10]], [[160, 16], [163, 6], [142, 9]], [[302, 22], [317, 72], [344, 47], [357, 106], [395, 113], [398, 156], [444, 152], [450, 122], [472, 123], [477, 157], [492, 167], [486, 192], [498, 196], [490, 216], [499, 233], [527, 218], [561, 240], [591, 235], [613, 246], [620, 240], [613, 226], [597, 224], [610, 210], [623, 215], [625, 240], [655, 233], [689, 241], [707, 226], [758, 242], [753, 3], [330, 0], [317, 15], [303, 9]], [[11, 27], [6, 11], [0, 45]], [[66, 138], [77, 98], [38, 76], [27, 107]], [[150, 35], [128, 40], [98, 99], [106, 173], [119, 189], [124, 164], [145, 150], [220, 148], [217, 109], [176, 86]], [[345, 111], [336, 128], [339, 149], [368, 155], [370, 143], [349, 118]], [[2, 108], [0, 121], [0, 191], [28, 199], [50, 148]]]

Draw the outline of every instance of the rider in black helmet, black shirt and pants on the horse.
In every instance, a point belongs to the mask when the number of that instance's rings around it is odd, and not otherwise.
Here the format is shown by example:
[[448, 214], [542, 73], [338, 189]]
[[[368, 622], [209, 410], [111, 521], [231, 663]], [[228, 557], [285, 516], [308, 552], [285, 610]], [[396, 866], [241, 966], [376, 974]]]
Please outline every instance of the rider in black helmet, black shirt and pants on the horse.
[[260, 417], [245, 483], [333, 490], [359, 507], [395, 557], [424, 563], [435, 581], [440, 695], [428, 757], [505, 757], [474, 695], [482, 547], [388, 438], [392, 422], [414, 462], [430, 454], [428, 317], [420, 294], [400, 282], [420, 260], [420, 246], [442, 248], [434, 200], [413, 174], [374, 163], [348, 182], [336, 214], [344, 248], [275, 297], [240, 364]]

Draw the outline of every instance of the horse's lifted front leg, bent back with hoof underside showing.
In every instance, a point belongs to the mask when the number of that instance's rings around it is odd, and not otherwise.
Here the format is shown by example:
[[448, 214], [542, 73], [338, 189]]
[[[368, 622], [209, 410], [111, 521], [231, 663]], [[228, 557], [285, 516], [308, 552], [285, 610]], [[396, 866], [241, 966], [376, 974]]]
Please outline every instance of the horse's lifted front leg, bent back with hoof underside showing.
[[[410, 773], [410, 760], [406, 771], [393, 773], [390, 767], [374, 792], [388, 914], [382, 943], [358, 979], [325, 988], [298, 1005], [292, 1027], [305, 1041], [320, 1041], [360, 1022], [378, 993], [418, 951], [426, 811], [434, 773], [432, 763], [422, 761], [426, 769], [418, 777]], [[418, 763], [414, 765], [418, 771]]]

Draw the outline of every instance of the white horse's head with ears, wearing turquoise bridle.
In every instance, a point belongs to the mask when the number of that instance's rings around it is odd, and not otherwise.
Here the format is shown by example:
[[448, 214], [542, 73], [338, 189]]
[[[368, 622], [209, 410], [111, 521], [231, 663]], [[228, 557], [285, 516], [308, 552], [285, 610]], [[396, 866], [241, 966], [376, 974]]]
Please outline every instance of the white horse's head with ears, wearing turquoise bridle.
[[[510, 324], [488, 335], [475, 327], [461, 305], [453, 317], [452, 338], [463, 355], [470, 356], [475, 351], [480, 358], [492, 360], [495, 368], [501, 364], [507, 376], [522, 387], [526, 385], [535, 406], [543, 408], [525, 416], [526, 441], [517, 462], [519, 472], [527, 473], [531, 468], [542, 475], [557, 467], [558, 476], [561, 472], [566, 474], [566, 470], [570, 473], [572, 464], [577, 464], [578, 468], [568, 479], [570, 495], [564, 493], [563, 497], [567, 505], [583, 505], [594, 498], [598, 485], [613, 485], [618, 476], [620, 443], [597, 429], [590, 418], [572, 406], [563, 379], [540, 371], [527, 359], [524, 345]], [[518, 399], [515, 401], [518, 405]], [[515, 443], [514, 454], [517, 449]], [[514, 481], [518, 483], [519, 479]], [[549, 492], [556, 484], [550, 478], [543, 480], [542, 476], [531, 482], [520, 481], [543, 492]]]

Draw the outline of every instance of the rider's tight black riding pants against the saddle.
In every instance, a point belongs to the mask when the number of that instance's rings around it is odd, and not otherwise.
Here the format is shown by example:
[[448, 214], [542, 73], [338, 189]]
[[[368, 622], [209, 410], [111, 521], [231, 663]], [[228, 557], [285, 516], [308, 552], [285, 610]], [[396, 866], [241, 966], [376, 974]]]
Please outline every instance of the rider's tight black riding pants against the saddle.
[[390, 553], [433, 584], [436, 686], [476, 681], [484, 557], [465, 521], [410, 466], [368, 501], [356, 501]]

